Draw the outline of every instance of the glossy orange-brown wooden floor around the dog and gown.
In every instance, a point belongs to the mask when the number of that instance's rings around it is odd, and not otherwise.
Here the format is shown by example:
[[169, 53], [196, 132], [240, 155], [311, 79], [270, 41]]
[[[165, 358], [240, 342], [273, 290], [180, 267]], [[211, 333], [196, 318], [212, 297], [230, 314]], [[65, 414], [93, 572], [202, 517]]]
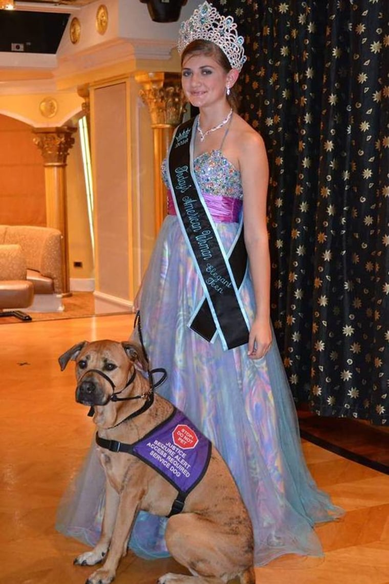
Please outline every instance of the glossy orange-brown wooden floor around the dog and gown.
[[[72, 367], [58, 356], [80, 340], [127, 339], [132, 315], [0, 326], [0, 584], [83, 584], [93, 568], [73, 566], [86, 547], [54, 529], [58, 500], [93, 434], [75, 403]], [[389, 584], [389, 476], [304, 443], [318, 485], [345, 507], [341, 522], [318, 527], [324, 558], [286, 556], [258, 568], [257, 582]], [[117, 584], [155, 582], [173, 560], [124, 558]]]

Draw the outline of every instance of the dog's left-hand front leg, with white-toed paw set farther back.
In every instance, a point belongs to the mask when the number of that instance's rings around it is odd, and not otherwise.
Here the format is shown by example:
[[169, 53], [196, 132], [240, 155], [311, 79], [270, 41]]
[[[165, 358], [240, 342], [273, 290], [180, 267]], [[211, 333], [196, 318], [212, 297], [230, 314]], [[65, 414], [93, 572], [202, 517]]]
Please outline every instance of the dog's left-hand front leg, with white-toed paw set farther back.
[[120, 495], [118, 495], [107, 479], [106, 502], [100, 539], [92, 551], [87, 551], [84, 554], [79, 555], [75, 559], [74, 564], [78, 566], [94, 566], [95, 564], [99, 564], [99, 562], [106, 557], [115, 527], [119, 501]]

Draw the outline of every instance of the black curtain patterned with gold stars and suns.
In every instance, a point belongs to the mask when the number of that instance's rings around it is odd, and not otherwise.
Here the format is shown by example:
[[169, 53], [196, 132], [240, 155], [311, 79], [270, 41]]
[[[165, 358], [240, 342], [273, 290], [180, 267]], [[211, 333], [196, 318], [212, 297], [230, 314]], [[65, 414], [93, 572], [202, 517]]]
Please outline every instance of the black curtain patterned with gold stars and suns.
[[293, 395], [389, 423], [389, 1], [213, 0], [267, 143], [272, 317]]

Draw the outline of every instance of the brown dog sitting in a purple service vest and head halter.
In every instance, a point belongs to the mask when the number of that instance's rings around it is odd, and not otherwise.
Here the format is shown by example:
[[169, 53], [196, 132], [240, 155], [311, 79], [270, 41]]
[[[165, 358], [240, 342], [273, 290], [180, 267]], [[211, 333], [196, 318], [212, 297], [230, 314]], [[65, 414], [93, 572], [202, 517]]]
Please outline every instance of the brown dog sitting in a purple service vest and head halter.
[[[193, 575], [167, 573], [159, 578], [159, 584], [188, 584], [194, 578], [198, 583], [218, 584], [236, 577], [241, 584], [254, 584], [250, 518], [215, 446], [209, 443], [208, 467], [186, 498], [177, 496], [180, 488], [159, 474], [153, 463], [121, 450], [131, 450], [164, 420], [174, 422], [174, 412], [180, 414], [169, 401], [153, 393], [152, 382], [139, 371], [147, 369], [142, 347], [132, 342], [84, 341], [59, 357], [61, 370], [69, 360], [76, 361], [76, 401], [92, 406], [94, 411], [96, 441], [101, 444], [97, 450], [107, 478], [100, 540], [92, 551], [75, 559], [75, 564], [92, 566], [106, 557], [87, 584], [109, 584], [115, 578], [139, 510], [169, 516], [167, 548]], [[159, 438], [154, 442], [146, 439], [146, 446], [158, 459], [156, 464], [163, 461], [161, 464], [170, 467], [171, 472], [185, 478], [194, 467], [186, 457], [194, 450], [197, 433], [184, 419], [172, 436], [169, 446]], [[204, 437], [201, 440], [208, 442]]]

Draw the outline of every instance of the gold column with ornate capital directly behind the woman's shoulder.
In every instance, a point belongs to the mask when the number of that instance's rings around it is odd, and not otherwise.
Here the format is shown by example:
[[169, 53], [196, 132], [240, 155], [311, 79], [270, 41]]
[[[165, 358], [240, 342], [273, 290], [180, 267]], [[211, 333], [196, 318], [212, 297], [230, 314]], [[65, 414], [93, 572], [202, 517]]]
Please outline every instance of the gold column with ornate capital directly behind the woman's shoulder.
[[155, 230], [159, 231], [167, 211], [167, 193], [161, 165], [166, 157], [173, 130], [181, 123], [185, 112], [185, 96], [181, 89], [181, 74], [139, 72], [136, 81], [142, 85], [139, 95], [150, 112], [154, 131]]

